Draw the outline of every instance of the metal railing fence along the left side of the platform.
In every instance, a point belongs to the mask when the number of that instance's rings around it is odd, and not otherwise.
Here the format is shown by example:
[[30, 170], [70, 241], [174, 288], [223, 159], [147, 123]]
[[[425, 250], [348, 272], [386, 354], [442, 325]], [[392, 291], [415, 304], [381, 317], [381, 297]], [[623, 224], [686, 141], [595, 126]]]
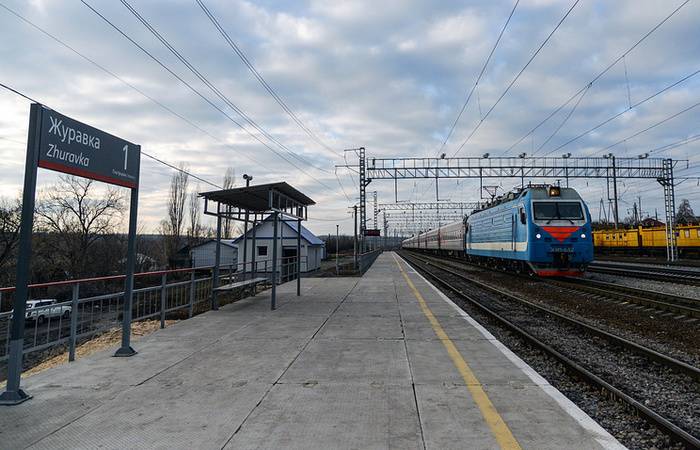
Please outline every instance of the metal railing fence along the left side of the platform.
[[[295, 279], [296, 257], [280, 261], [277, 282]], [[272, 279], [272, 260], [256, 261], [255, 269], [250, 262], [220, 266], [218, 285], [252, 277]], [[159, 318], [164, 328], [169, 314], [190, 318], [210, 309], [213, 273], [214, 267], [200, 267], [135, 274], [132, 320]], [[120, 326], [123, 281], [124, 275], [115, 275], [30, 285], [33, 300], [25, 315], [24, 353], [68, 344], [69, 360], [74, 360], [78, 341]], [[14, 287], [0, 288], [0, 361], [8, 358], [13, 292]]]

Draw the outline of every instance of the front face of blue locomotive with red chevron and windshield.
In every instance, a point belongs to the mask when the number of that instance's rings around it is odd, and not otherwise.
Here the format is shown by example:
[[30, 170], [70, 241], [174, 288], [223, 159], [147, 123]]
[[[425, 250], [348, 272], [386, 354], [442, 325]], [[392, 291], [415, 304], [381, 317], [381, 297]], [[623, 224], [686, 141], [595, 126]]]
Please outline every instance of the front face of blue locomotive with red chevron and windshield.
[[579, 276], [593, 261], [591, 215], [574, 189], [530, 191], [530, 265], [539, 276]]

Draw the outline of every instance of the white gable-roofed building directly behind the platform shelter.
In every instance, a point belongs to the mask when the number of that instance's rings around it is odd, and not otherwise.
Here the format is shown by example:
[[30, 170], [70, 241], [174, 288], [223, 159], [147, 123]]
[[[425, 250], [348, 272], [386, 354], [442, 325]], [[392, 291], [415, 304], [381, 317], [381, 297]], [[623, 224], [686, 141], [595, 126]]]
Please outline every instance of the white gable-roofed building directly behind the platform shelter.
[[[251, 268], [253, 250], [255, 250], [255, 264], [258, 272], [272, 271], [272, 242], [274, 237], [274, 227], [272, 216], [259, 223], [255, 228], [255, 249], [253, 249], [253, 230], [248, 230], [246, 234], [247, 249], [246, 269]], [[243, 236], [238, 237], [233, 243], [238, 247], [238, 264], [243, 267]], [[282, 259], [282, 266], [294, 261], [297, 255], [297, 221], [282, 221], [280, 219], [277, 230], [277, 257]], [[301, 271], [311, 272], [321, 267], [321, 260], [325, 256], [326, 243], [316, 237], [303, 225], [301, 227]], [[267, 265], [265, 264], [267, 261]], [[281, 269], [282, 276], [285, 275], [284, 267]]]

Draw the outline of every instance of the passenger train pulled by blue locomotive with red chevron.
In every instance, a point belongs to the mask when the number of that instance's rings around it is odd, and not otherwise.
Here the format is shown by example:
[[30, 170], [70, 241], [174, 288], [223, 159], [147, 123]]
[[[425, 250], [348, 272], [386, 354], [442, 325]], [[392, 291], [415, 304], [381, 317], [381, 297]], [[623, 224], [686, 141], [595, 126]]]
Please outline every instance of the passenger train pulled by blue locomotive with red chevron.
[[402, 247], [540, 276], [581, 275], [593, 260], [591, 216], [574, 189], [529, 186]]

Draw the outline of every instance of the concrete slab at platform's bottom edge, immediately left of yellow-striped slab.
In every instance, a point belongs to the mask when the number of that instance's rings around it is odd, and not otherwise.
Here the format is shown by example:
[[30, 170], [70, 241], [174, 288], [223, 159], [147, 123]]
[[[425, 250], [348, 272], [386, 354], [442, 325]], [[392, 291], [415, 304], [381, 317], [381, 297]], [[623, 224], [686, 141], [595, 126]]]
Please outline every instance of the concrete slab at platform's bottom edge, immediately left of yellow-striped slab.
[[422, 449], [410, 387], [278, 384], [226, 449]]

